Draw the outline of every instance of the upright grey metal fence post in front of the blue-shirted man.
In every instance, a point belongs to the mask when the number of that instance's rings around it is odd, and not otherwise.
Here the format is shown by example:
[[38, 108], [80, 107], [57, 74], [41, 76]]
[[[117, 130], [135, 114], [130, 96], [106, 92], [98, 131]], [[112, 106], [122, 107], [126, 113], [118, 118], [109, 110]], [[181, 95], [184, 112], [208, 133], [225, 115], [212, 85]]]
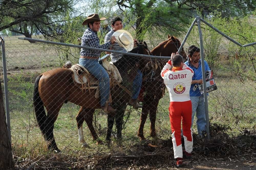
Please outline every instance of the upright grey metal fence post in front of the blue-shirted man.
[[206, 79], [205, 79], [205, 59], [204, 59], [204, 46], [203, 46], [203, 36], [202, 30], [200, 27], [200, 17], [196, 17], [198, 32], [199, 32], [199, 40], [200, 40], [200, 54], [202, 61], [202, 76], [203, 76], [203, 87], [204, 87], [204, 101], [205, 101], [205, 117], [206, 117], [206, 130], [207, 130], [207, 138], [210, 139], [210, 130], [209, 130], [209, 112], [208, 112], [208, 100], [206, 93]]

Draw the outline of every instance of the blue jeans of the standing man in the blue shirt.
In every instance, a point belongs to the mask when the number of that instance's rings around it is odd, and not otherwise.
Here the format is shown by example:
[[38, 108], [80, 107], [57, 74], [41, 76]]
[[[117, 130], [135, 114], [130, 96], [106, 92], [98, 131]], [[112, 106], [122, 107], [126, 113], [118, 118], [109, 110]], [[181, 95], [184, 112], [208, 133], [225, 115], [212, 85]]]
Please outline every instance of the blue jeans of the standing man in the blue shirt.
[[205, 101], [204, 96], [190, 96], [192, 103], [192, 124], [193, 126], [195, 112], [196, 112], [196, 125], [197, 132], [199, 135], [202, 135], [202, 131], [206, 131], [206, 117], [205, 117]]

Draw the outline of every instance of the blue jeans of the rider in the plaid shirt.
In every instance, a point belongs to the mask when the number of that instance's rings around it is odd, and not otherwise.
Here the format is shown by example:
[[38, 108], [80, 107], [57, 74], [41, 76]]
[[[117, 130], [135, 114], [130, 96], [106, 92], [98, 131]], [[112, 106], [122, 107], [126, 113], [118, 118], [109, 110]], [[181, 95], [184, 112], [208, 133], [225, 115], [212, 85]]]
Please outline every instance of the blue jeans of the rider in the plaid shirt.
[[100, 105], [105, 106], [106, 101], [109, 99], [110, 82], [109, 75], [99, 63], [97, 59], [79, 59], [79, 64], [84, 66], [89, 73], [94, 75], [99, 80], [100, 88]]

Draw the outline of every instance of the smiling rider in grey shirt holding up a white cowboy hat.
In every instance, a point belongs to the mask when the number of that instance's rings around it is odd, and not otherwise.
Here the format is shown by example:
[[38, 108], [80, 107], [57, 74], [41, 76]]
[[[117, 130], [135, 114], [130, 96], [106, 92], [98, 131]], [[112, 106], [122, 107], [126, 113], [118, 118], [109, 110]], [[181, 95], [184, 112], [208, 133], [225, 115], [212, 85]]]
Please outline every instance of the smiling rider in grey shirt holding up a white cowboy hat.
[[[123, 23], [120, 17], [114, 17], [111, 20], [111, 31], [109, 31], [105, 36], [105, 43], [108, 42], [112, 36], [116, 37], [116, 42], [113, 44], [111, 50], [115, 51], [123, 51], [128, 52], [131, 51], [136, 45], [135, 39], [132, 38], [132, 35], [128, 32], [123, 30]], [[106, 52], [107, 53], [107, 52]], [[118, 68], [118, 70], [122, 69], [123, 62], [130, 62], [128, 58], [122, 57], [122, 54], [111, 53], [111, 61], [114, 65]], [[137, 98], [139, 96], [141, 90], [141, 83], [142, 83], [142, 73], [139, 69], [137, 69], [136, 77], [133, 80], [133, 92], [131, 96], [131, 100], [129, 101], [129, 105], [133, 106], [133, 108], [138, 109], [142, 108], [141, 105], [138, 104]]]

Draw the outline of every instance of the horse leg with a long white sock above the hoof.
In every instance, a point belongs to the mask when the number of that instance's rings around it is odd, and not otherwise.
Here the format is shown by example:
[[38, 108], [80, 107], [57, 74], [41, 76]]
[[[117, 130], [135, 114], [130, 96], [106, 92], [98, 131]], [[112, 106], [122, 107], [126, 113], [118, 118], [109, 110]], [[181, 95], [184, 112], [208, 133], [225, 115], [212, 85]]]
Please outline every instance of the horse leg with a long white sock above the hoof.
[[86, 143], [86, 141], [84, 140], [84, 136], [83, 136], [83, 121], [85, 120], [84, 116], [85, 116], [85, 112], [83, 107], [80, 108], [77, 116], [76, 116], [76, 120], [77, 120], [77, 128], [78, 128], [78, 141], [79, 143], [82, 143], [82, 147], [89, 147], [89, 145]]

